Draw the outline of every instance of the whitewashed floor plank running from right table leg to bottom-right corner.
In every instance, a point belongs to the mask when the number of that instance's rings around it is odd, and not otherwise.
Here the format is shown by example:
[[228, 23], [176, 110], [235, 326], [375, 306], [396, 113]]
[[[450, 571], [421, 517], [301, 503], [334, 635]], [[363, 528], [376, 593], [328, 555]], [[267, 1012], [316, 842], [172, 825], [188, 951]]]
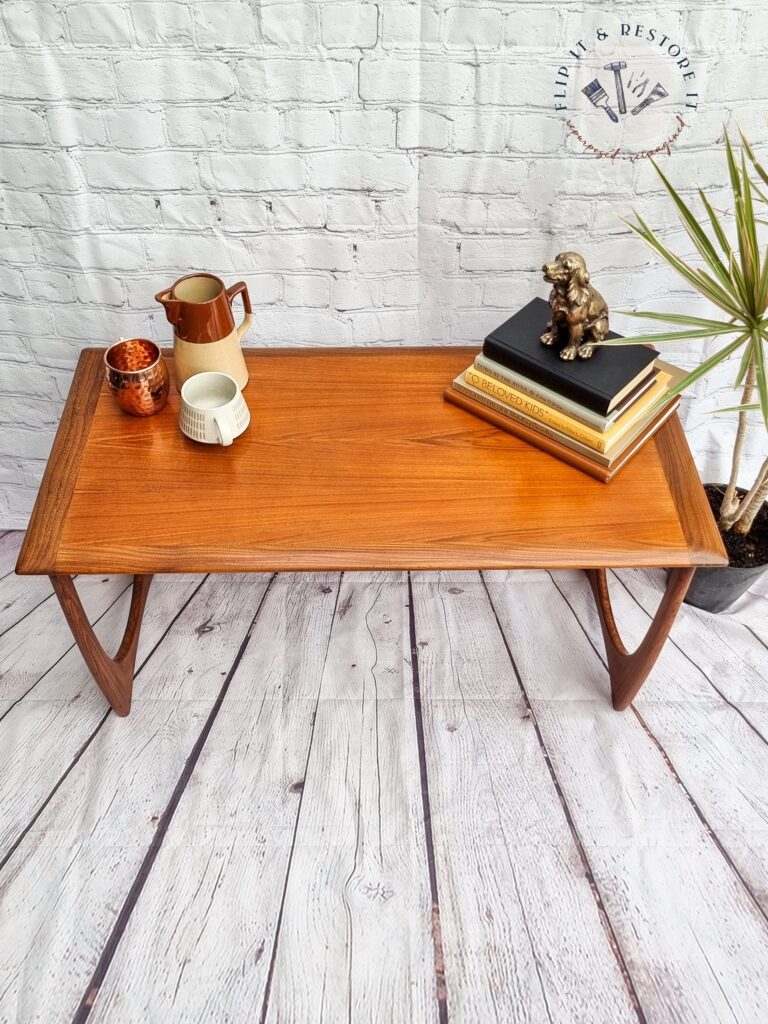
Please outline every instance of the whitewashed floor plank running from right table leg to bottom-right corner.
[[765, 918], [663, 753], [611, 710], [603, 665], [549, 573], [488, 589], [646, 1019], [760, 1021]]

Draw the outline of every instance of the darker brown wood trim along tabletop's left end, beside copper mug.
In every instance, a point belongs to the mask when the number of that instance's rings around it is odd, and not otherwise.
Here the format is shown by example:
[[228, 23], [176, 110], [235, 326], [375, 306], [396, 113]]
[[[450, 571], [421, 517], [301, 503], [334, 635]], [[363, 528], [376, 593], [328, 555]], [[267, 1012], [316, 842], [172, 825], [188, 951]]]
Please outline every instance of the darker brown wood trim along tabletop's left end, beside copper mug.
[[16, 562], [19, 575], [53, 571], [67, 510], [103, 380], [103, 349], [80, 353], [61, 421], [48, 457], [32, 518]]

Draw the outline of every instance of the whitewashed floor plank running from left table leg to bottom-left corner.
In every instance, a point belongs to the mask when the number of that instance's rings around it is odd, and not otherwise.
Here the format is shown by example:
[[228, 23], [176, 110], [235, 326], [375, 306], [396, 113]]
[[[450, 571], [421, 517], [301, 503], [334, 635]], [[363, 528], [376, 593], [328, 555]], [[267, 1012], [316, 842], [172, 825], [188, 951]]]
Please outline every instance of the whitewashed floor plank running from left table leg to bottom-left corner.
[[0, 1019], [73, 1019], [267, 583], [204, 584], [5, 865]]

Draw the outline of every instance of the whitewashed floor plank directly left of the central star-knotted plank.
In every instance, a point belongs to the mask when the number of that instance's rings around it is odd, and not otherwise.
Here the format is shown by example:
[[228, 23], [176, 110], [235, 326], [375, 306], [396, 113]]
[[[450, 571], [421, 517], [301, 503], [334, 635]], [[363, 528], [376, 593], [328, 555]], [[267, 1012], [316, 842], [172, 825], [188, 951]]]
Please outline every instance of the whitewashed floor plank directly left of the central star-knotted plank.
[[91, 1024], [258, 1019], [338, 582], [270, 589]]

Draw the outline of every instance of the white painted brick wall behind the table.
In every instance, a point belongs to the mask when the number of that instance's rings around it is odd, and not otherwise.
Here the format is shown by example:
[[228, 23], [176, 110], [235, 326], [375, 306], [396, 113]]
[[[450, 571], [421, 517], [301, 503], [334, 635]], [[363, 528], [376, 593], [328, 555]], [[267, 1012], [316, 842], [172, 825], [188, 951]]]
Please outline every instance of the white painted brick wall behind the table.
[[[722, 204], [723, 122], [766, 153], [763, 7], [5, 0], [0, 527], [26, 523], [79, 349], [168, 341], [154, 295], [191, 269], [248, 282], [254, 345], [478, 343], [565, 246], [614, 308], [692, 309], [618, 220], [672, 227], [651, 168], [566, 139], [554, 72], [608, 16], [678, 36], [701, 110], [665, 166]], [[709, 478], [729, 375], [686, 401]]]

